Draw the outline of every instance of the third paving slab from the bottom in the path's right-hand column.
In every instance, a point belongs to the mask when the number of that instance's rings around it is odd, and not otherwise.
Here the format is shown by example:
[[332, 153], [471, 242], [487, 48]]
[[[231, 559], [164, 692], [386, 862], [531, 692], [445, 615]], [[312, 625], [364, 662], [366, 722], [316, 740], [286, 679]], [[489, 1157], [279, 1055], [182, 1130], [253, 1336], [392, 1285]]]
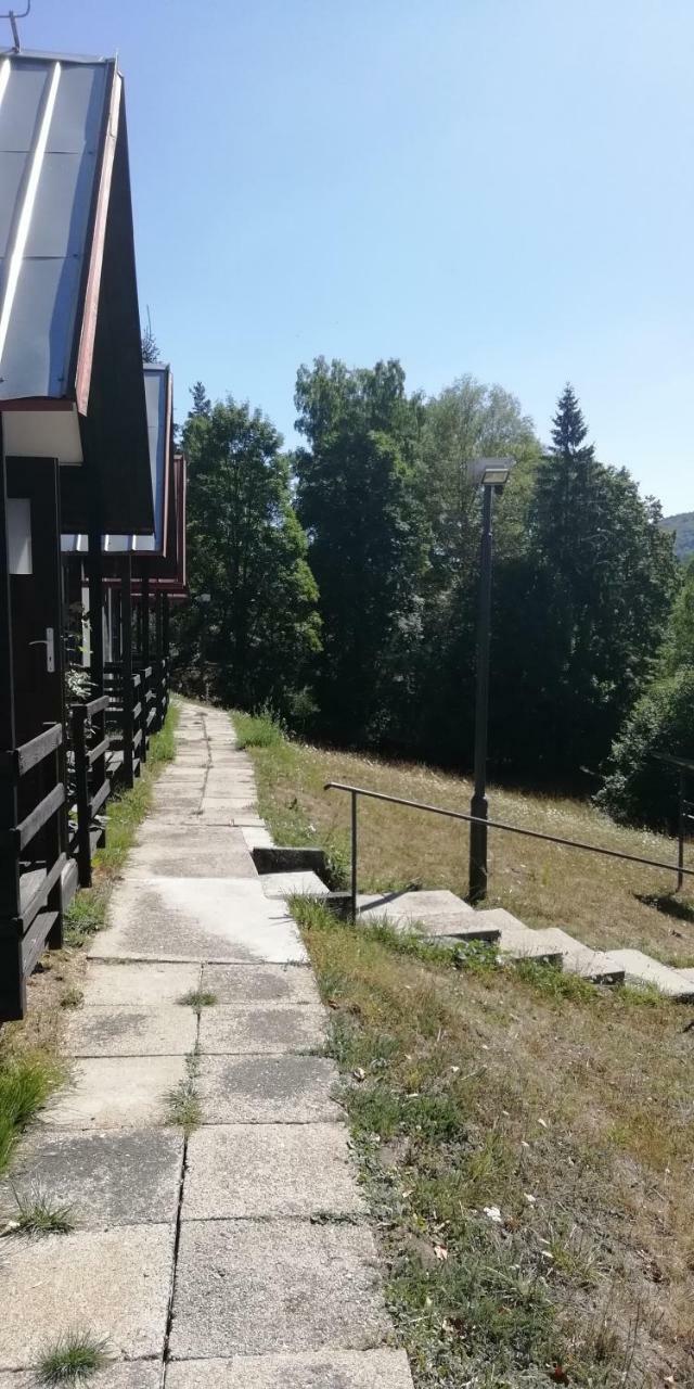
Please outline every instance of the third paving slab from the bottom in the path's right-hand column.
[[229, 1124], [189, 1139], [183, 1220], [365, 1211], [344, 1124]]

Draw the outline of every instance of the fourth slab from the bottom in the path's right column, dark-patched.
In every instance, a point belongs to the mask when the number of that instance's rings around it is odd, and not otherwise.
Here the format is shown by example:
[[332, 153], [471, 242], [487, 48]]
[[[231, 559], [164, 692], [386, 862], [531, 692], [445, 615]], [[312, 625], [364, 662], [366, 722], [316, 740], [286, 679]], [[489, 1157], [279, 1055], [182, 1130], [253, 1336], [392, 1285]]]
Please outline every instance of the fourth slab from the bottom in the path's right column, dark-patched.
[[201, 1056], [204, 1124], [316, 1124], [343, 1118], [337, 1068], [322, 1056]]

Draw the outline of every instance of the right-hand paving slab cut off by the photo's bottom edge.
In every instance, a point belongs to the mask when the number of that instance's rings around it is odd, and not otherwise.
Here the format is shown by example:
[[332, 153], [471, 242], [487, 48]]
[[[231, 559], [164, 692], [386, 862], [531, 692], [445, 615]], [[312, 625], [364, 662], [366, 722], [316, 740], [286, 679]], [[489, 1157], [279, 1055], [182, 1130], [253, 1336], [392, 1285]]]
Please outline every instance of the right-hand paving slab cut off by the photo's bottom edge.
[[303, 1351], [172, 1363], [167, 1389], [412, 1389], [412, 1376], [404, 1350]]

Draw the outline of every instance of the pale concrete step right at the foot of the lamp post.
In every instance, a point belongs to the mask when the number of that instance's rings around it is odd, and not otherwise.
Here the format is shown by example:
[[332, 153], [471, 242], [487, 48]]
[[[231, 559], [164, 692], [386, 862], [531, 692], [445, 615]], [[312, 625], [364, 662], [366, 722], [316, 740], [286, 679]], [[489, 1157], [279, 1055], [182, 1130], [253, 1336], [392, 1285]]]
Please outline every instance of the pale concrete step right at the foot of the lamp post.
[[498, 929], [479, 920], [480, 913], [447, 889], [422, 892], [359, 893], [362, 924], [383, 922], [394, 931], [418, 931], [444, 942], [498, 940]]

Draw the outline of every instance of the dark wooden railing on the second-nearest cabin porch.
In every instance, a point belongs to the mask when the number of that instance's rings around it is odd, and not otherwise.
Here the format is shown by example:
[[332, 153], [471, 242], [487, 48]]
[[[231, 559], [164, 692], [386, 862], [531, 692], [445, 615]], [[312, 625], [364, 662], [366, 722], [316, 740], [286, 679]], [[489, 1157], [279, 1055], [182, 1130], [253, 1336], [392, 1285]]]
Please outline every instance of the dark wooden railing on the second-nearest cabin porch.
[[76, 829], [69, 847], [78, 863], [81, 888], [92, 886], [92, 854], [105, 843], [105, 829], [97, 815], [111, 793], [111, 782], [105, 774], [110, 749], [110, 735], [105, 732], [108, 704], [108, 694], [101, 694], [71, 708]]

